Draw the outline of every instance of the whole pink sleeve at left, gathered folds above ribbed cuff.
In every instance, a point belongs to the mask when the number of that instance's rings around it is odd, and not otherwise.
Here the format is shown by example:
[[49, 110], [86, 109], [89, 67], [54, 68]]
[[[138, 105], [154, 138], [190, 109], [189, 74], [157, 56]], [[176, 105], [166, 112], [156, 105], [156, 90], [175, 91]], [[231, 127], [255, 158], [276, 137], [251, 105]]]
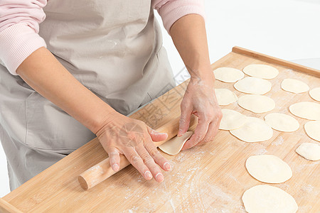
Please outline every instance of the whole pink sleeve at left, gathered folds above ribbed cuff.
[[0, 60], [16, 74], [19, 65], [46, 42], [38, 35], [46, 0], [0, 1]]

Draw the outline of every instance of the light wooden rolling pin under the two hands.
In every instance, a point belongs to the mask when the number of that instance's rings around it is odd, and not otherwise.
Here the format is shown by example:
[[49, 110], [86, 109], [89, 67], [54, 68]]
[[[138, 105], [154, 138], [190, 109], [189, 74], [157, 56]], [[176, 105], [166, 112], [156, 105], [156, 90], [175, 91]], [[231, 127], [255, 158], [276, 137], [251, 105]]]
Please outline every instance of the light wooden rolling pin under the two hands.
[[[179, 126], [180, 117], [169, 121], [168, 123], [164, 124], [164, 126], [159, 127], [156, 129], [158, 132], [165, 132], [168, 133], [168, 138], [164, 141], [154, 142], [156, 147], [160, 146], [166, 141], [169, 141], [171, 138], [174, 138], [178, 134], [178, 126]], [[190, 127], [196, 126], [198, 119], [196, 116], [191, 116]], [[127, 165], [130, 165], [129, 160], [124, 155], [120, 155], [120, 165], [119, 170], [122, 170]], [[119, 171], [118, 170], [118, 171]], [[78, 181], [80, 186], [84, 190], [89, 190], [90, 188], [94, 187], [95, 185], [99, 184], [103, 180], [106, 180], [111, 175], [114, 175], [115, 172], [112, 170], [110, 166], [109, 158], [102, 160], [100, 163], [92, 166], [92, 168], [86, 170], [84, 173], [78, 176]]]

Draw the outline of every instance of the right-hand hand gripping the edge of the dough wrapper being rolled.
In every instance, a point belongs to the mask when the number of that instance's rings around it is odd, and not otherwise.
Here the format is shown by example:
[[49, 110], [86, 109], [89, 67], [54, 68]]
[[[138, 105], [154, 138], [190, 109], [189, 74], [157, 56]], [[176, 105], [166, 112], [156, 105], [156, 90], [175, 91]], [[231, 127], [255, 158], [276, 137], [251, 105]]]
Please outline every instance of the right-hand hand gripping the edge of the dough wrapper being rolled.
[[215, 97], [214, 76], [210, 67], [201, 70], [202, 76], [191, 75], [181, 102], [181, 119], [178, 136], [189, 128], [191, 114], [198, 116], [198, 126], [182, 150], [213, 141], [218, 133], [222, 112]]

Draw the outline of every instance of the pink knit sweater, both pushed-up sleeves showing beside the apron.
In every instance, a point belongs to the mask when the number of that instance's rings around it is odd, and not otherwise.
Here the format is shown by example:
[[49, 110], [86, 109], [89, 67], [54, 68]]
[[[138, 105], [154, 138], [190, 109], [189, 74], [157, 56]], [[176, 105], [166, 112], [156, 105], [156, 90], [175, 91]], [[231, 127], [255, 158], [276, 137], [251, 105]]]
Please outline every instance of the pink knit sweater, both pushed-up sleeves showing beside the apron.
[[[169, 32], [171, 26], [190, 13], [204, 16], [203, 0], [151, 0]], [[31, 53], [46, 42], [38, 35], [39, 23], [45, 18], [43, 7], [46, 0], [1, 0], [0, 1], [0, 60], [11, 72]]]

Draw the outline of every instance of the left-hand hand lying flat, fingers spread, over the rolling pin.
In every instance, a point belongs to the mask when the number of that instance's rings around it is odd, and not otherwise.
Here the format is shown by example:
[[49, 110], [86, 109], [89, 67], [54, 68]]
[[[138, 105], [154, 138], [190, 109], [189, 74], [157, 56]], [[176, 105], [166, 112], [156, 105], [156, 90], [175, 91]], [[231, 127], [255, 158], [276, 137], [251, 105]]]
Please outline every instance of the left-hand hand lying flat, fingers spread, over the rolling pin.
[[164, 141], [168, 135], [154, 131], [143, 121], [113, 112], [96, 135], [107, 151], [114, 171], [119, 170], [120, 154], [125, 155], [146, 180], [152, 177], [157, 182], [164, 180], [159, 166], [163, 170], [171, 170], [168, 160], [152, 142]]

